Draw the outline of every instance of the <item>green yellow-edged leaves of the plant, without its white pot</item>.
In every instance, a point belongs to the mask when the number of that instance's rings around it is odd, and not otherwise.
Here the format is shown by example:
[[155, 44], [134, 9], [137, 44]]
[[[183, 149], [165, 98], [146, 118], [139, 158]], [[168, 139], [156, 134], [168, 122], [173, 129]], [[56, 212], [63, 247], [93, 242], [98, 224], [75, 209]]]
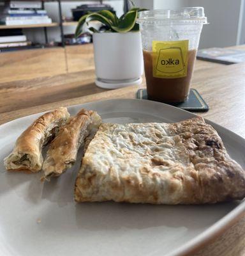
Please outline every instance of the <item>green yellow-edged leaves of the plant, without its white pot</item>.
[[87, 28], [90, 31], [94, 33], [99, 33], [98, 30], [96, 30], [89, 24], [89, 22], [93, 20], [99, 21], [105, 27], [106, 32], [126, 33], [128, 31], [138, 31], [139, 28], [138, 24], [136, 23], [136, 19], [138, 17], [138, 12], [144, 10], [146, 9], [133, 7], [129, 12], [124, 13], [119, 18], [117, 17], [117, 15], [108, 10], [87, 13], [78, 20], [75, 37], [78, 37], [82, 34], [84, 24], [87, 25]]

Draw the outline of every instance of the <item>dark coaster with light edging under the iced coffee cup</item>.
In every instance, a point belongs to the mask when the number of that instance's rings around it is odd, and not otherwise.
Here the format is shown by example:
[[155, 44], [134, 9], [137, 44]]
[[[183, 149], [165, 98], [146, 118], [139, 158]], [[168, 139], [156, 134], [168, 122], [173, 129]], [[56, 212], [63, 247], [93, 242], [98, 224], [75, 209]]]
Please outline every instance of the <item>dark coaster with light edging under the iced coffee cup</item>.
[[[148, 99], [146, 89], [138, 90], [137, 99], [144, 99], [144, 100]], [[167, 104], [175, 106], [177, 108], [182, 108], [188, 111], [205, 112], [209, 110], [209, 106], [207, 106], [207, 103], [204, 101], [204, 99], [202, 99], [202, 96], [195, 89], [191, 89], [189, 91], [188, 100], [180, 103], [167, 103]]]

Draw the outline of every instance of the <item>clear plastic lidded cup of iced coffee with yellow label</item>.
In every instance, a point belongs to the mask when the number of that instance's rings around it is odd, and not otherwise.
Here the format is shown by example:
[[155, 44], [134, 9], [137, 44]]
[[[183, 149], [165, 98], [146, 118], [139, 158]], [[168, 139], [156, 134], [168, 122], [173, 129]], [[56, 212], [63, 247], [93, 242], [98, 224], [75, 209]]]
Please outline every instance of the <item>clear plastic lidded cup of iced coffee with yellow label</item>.
[[188, 99], [200, 33], [207, 18], [202, 7], [140, 12], [148, 98]]

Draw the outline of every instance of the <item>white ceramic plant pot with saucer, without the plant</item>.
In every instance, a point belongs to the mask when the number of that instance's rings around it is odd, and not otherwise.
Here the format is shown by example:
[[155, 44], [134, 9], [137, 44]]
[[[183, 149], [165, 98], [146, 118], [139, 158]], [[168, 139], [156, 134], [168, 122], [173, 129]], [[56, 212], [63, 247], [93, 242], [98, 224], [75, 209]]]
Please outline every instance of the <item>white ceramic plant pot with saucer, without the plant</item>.
[[140, 32], [94, 33], [93, 43], [97, 86], [114, 89], [141, 83]]

